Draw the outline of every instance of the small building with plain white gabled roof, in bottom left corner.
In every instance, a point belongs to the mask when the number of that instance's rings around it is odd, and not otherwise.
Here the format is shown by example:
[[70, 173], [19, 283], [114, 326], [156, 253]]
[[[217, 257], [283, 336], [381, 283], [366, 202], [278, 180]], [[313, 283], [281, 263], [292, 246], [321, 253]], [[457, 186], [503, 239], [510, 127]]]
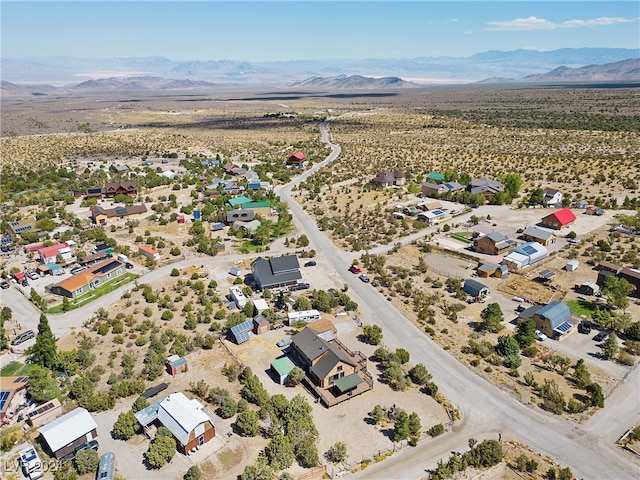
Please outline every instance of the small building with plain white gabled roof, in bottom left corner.
[[51, 455], [59, 459], [96, 438], [98, 425], [86, 409], [78, 407], [43, 425], [39, 431]]

